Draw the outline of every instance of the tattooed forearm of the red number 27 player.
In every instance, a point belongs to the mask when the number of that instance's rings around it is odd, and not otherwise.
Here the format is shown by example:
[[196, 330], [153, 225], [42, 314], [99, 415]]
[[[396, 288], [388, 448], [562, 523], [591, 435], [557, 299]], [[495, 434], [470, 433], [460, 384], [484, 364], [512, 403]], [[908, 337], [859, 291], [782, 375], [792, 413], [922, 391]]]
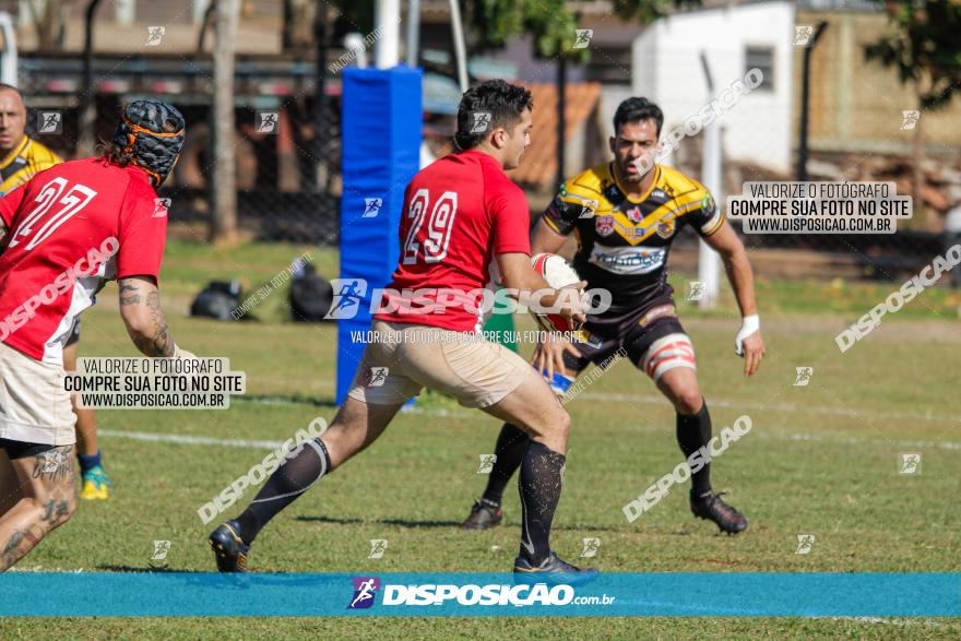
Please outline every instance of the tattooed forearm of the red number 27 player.
[[177, 348], [161, 309], [161, 293], [147, 276], [120, 278], [120, 316], [137, 348], [147, 356], [174, 356]]

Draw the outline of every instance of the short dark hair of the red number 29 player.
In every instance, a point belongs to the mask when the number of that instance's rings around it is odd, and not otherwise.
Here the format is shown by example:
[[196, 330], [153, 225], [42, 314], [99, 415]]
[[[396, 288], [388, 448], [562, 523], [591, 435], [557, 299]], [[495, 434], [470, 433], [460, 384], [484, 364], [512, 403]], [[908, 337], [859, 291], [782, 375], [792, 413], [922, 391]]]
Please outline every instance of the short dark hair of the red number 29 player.
[[[460, 151], [472, 150], [497, 128], [513, 129], [524, 109], [534, 107], [531, 92], [502, 80], [488, 80], [468, 88], [458, 106], [458, 131], [454, 144]], [[480, 119], [475, 114], [488, 114]], [[483, 126], [480, 129], [478, 126]]]

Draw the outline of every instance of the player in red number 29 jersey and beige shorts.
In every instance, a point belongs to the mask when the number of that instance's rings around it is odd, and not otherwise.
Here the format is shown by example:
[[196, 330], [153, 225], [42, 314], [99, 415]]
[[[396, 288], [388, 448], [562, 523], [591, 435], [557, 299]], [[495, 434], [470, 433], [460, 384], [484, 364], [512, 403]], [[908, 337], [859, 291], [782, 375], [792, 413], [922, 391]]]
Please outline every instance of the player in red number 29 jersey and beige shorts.
[[398, 309], [375, 314], [375, 340], [330, 428], [310, 447], [287, 456], [244, 513], [211, 534], [221, 571], [246, 571], [249, 546], [268, 521], [372, 443], [404, 403], [426, 387], [519, 425], [531, 436], [521, 462], [523, 512], [514, 572], [567, 583], [596, 573], [560, 560], [549, 546], [570, 418], [520, 356], [478, 340], [482, 314], [467, 300], [470, 293], [489, 286], [494, 263], [506, 287], [545, 289], [537, 302], [556, 305], [568, 319], [583, 319], [582, 301], [550, 289], [531, 266], [530, 210], [521, 189], [503, 173], [519, 165], [530, 144], [532, 106], [530, 92], [503, 81], [485, 82], [464, 94], [455, 135], [460, 151], [432, 163], [407, 186], [401, 259], [389, 285], [391, 290], [419, 290], [418, 295], [429, 289], [438, 294], [435, 300], [452, 296], [460, 305], [431, 306], [428, 300], [425, 308], [436, 312], [424, 313], [385, 296], [382, 307]]

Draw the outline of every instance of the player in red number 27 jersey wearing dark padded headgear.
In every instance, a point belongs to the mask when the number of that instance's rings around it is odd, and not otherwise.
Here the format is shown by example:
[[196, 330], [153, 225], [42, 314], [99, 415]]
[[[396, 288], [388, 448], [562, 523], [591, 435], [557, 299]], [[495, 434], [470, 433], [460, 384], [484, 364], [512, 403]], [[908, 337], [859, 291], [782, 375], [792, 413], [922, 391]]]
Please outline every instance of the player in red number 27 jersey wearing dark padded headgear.
[[0, 199], [0, 571], [70, 519], [75, 415], [63, 345], [106, 281], [147, 356], [174, 344], [157, 292], [166, 211], [156, 192], [183, 144], [170, 105], [127, 106], [103, 157], [40, 171]]

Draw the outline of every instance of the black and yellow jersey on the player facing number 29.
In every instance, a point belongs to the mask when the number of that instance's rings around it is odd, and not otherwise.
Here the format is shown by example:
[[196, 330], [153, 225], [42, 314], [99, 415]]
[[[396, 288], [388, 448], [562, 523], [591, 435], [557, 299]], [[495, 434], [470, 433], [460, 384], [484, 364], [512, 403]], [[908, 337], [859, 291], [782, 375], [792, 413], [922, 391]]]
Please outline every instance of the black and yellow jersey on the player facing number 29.
[[558, 234], [577, 235], [573, 266], [588, 287], [610, 290], [618, 317], [669, 298], [667, 253], [677, 233], [690, 225], [701, 236], [724, 224], [711, 193], [680, 171], [656, 165], [654, 181], [640, 199], [618, 186], [612, 163], [567, 180], [544, 212]]

